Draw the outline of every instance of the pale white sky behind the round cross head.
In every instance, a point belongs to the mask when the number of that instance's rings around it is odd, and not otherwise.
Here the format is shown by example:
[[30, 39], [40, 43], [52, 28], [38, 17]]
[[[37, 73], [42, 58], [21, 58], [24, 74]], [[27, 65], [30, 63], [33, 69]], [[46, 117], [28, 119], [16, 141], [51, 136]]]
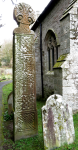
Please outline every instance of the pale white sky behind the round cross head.
[[[40, 13], [50, 2], [50, 0], [45, 1], [13, 0], [13, 1], [16, 4], [21, 2], [29, 4], [35, 12], [39, 11]], [[0, 0], [0, 15], [2, 15], [2, 20], [0, 20], [0, 24], [4, 24], [4, 26], [0, 28], [0, 45], [3, 44], [5, 41], [12, 40], [13, 30], [17, 27], [17, 24], [13, 19], [13, 9], [14, 5], [12, 4], [11, 0]]]

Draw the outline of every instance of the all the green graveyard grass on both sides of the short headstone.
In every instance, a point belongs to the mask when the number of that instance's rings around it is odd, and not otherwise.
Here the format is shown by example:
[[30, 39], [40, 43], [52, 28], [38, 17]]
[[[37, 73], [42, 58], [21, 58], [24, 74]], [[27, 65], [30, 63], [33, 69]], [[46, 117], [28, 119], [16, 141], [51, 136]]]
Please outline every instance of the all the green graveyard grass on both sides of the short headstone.
[[[45, 101], [38, 99], [37, 113], [38, 113], [38, 135], [28, 139], [18, 140], [13, 142], [13, 115], [8, 115], [7, 97], [12, 91], [12, 83], [3, 87], [3, 134], [4, 144], [3, 150], [44, 150], [43, 130], [42, 130], [42, 113], [41, 108], [45, 105]], [[78, 113], [73, 115], [75, 127], [75, 141], [67, 145], [57, 148], [56, 150], [78, 150]]]

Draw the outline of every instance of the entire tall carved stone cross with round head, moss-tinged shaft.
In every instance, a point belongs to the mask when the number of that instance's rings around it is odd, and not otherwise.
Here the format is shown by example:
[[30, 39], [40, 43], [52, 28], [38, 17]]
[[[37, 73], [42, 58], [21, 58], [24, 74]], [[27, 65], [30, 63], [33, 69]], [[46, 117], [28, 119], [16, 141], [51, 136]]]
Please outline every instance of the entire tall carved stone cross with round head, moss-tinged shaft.
[[13, 36], [14, 140], [18, 140], [38, 133], [34, 32], [29, 28], [34, 11], [20, 3], [14, 8], [14, 19], [19, 25]]

